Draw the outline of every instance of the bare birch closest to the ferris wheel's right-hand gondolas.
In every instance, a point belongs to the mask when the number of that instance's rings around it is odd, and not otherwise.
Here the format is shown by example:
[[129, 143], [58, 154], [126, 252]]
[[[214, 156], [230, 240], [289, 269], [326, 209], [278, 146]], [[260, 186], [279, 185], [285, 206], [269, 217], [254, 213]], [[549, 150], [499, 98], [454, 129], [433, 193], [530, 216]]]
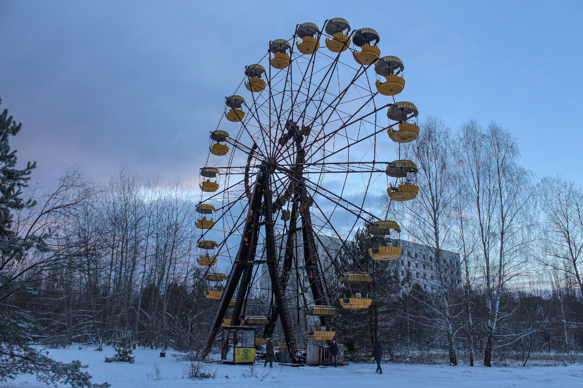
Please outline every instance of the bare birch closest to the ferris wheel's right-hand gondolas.
[[454, 227], [452, 214], [458, 194], [450, 133], [451, 129], [440, 119], [428, 118], [422, 123], [417, 140], [405, 148], [406, 158], [417, 163], [419, 169], [419, 195], [404, 205], [407, 232], [433, 251], [433, 258], [423, 264], [431, 273], [423, 282], [433, 290], [437, 300], [431, 300], [426, 307], [433, 313], [430, 322], [447, 338], [449, 363], [457, 365], [456, 307], [452, 305], [452, 290], [458, 284], [459, 268], [443, 252]]

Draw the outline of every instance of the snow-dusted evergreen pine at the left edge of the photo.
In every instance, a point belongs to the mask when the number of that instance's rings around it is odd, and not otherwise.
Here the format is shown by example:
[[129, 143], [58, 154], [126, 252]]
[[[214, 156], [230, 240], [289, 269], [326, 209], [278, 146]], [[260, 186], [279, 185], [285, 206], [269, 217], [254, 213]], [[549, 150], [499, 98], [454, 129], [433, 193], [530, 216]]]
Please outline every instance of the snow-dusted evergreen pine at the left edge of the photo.
[[[1, 100], [0, 100], [1, 104]], [[9, 270], [27, 257], [29, 251], [45, 251], [46, 236], [27, 236], [23, 239], [13, 227], [13, 214], [36, 205], [24, 198], [30, 173], [36, 163], [26, 163], [23, 169], [16, 168], [16, 150], [10, 149], [9, 137], [19, 133], [22, 124], [16, 123], [8, 110], [0, 113], [0, 381], [15, 379], [17, 375], [32, 373], [44, 383], [63, 383], [73, 388], [108, 387], [91, 382], [91, 375], [82, 372], [80, 361], [70, 364], [55, 361], [33, 346], [31, 333], [36, 330], [33, 319], [26, 311], [11, 306], [8, 301], [16, 290], [34, 291], [19, 277], [8, 276]]]

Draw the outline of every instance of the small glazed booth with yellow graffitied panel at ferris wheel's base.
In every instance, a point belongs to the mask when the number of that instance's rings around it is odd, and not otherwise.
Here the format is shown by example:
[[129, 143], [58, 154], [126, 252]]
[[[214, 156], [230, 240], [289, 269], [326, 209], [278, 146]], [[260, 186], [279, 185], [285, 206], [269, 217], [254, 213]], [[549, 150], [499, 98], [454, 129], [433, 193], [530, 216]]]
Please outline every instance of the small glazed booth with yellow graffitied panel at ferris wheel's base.
[[255, 328], [224, 326], [221, 361], [226, 364], [253, 364], [255, 362]]

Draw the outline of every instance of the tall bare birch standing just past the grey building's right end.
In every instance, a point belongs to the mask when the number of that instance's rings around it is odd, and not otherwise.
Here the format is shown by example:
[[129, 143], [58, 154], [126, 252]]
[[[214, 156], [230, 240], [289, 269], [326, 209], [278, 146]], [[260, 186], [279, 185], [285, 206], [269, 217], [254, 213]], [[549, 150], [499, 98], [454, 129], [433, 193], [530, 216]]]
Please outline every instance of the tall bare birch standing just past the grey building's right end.
[[461, 129], [462, 172], [476, 222], [487, 309], [484, 365], [491, 366], [494, 335], [505, 317], [500, 302], [507, 283], [522, 275], [536, 227], [532, 173], [518, 162], [518, 146], [495, 123], [470, 121]]

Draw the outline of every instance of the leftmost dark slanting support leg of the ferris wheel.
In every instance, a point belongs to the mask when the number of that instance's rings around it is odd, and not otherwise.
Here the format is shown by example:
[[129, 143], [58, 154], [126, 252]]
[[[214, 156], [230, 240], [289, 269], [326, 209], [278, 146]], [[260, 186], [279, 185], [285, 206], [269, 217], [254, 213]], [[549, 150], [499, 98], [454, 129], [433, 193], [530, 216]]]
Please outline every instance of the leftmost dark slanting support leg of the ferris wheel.
[[[224, 315], [227, 312], [227, 308], [229, 308], [229, 303], [231, 298], [233, 298], [233, 294], [237, 289], [237, 285], [239, 284], [239, 280], [241, 280], [245, 268], [248, 268], [250, 262], [252, 263], [255, 259], [255, 247], [257, 246], [257, 238], [259, 235], [259, 216], [261, 216], [261, 200], [263, 197], [263, 187], [259, 184], [261, 179], [262, 174], [260, 173], [257, 176], [257, 181], [255, 181], [255, 187], [251, 194], [249, 212], [247, 213], [247, 220], [245, 220], [245, 229], [243, 230], [243, 237], [241, 237], [241, 244], [237, 251], [237, 258], [231, 268], [227, 285], [225, 286], [223, 296], [220, 300], [219, 308], [217, 309], [215, 319], [213, 320], [209, 335], [206, 339], [206, 347], [202, 352], [203, 358], [210, 353], [210, 350], [213, 347], [216, 334], [221, 327]], [[241, 311], [244, 297], [245, 296], [241, 295], [241, 293], [237, 295], [235, 308], [237, 309], [238, 307], [239, 312]], [[236, 318], [236, 316], [233, 316], [233, 319], [234, 318]]]

